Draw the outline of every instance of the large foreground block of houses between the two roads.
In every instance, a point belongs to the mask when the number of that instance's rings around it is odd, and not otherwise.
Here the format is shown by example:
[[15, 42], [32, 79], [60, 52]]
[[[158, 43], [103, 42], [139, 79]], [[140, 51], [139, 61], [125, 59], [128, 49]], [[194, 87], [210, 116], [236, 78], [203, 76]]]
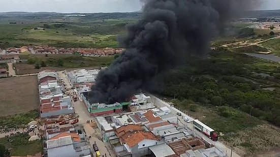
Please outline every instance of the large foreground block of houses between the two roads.
[[168, 107], [98, 116], [97, 125], [116, 156], [226, 156], [179, 126]]

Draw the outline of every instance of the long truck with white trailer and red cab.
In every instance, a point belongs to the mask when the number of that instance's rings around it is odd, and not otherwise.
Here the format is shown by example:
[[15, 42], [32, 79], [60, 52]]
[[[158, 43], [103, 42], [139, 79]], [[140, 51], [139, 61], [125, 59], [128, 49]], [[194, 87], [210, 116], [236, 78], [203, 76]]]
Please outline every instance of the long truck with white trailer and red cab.
[[200, 131], [201, 133], [206, 135], [211, 140], [213, 140], [213, 141], [218, 140], [218, 137], [219, 137], [218, 134], [213, 129], [211, 129], [210, 127], [208, 127], [204, 123], [202, 123], [201, 121], [195, 119], [194, 120], [194, 127], [196, 128], [196, 130]]

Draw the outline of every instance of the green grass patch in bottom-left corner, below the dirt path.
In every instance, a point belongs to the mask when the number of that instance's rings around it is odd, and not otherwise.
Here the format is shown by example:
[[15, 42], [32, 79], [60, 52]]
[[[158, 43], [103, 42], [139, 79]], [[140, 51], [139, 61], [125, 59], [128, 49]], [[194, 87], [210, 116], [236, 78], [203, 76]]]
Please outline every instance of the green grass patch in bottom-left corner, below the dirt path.
[[3, 144], [11, 152], [11, 155], [25, 156], [34, 155], [43, 151], [42, 140], [28, 141], [28, 134], [17, 134], [11, 137], [0, 138], [0, 144]]

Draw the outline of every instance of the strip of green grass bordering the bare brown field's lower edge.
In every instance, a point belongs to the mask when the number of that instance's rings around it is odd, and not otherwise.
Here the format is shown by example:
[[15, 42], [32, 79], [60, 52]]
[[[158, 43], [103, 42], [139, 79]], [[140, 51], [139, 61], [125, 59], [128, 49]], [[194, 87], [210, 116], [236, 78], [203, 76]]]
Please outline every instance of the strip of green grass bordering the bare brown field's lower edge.
[[36, 110], [27, 113], [2, 116], [0, 117], [0, 125], [4, 128], [21, 128], [25, 127], [28, 122], [35, 120], [38, 117], [39, 113]]

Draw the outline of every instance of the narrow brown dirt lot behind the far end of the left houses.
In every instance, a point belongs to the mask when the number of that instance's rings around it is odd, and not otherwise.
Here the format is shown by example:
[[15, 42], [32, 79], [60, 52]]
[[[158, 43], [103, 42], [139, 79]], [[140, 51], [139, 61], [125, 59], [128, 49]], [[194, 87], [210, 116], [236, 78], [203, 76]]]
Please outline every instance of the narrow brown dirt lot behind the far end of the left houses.
[[17, 75], [24, 75], [24, 74], [33, 74], [38, 73], [41, 70], [55, 70], [55, 71], [62, 71], [69, 68], [60, 68], [60, 67], [42, 67], [41, 69], [35, 69], [34, 65], [29, 65], [25, 63], [14, 64], [16, 67], [16, 74]]

